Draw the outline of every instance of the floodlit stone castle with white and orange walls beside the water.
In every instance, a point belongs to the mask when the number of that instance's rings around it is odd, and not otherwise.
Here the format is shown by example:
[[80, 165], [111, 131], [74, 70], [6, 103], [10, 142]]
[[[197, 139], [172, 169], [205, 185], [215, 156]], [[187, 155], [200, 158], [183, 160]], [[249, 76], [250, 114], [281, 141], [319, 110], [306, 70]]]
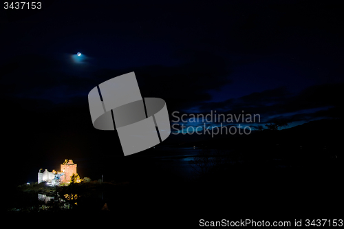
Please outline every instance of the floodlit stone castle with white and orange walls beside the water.
[[41, 173], [41, 169], [39, 170], [39, 182], [47, 182], [48, 184], [55, 185], [58, 179], [60, 179], [61, 183], [69, 183], [70, 177], [76, 173], [76, 164], [72, 160], [65, 160], [63, 164], [61, 164], [61, 172], [56, 172], [53, 170], [52, 172], [45, 171]]

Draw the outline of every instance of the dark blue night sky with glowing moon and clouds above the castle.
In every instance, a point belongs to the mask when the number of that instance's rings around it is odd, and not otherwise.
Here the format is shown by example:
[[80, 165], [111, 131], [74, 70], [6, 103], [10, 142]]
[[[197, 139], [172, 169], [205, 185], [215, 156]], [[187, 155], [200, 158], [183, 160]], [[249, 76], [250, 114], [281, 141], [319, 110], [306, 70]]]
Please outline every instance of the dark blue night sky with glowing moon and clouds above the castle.
[[342, 6], [324, 1], [49, 0], [41, 10], [2, 8], [1, 151], [19, 166], [121, 155], [114, 132], [92, 127], [87, 94], [128, 72], [142, 97], [164, 99], [170, 114], [245, 111], [289, 127], [342, 117], [343, 17]]

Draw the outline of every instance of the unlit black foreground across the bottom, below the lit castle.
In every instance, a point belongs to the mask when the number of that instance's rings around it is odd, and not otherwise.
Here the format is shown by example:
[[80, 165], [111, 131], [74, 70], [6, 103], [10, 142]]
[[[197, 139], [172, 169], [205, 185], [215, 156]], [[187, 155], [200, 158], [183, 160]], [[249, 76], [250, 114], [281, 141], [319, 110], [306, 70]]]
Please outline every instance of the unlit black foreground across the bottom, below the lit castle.
[[[304, 166], [247, 161], [219, 166], [220, 169], [194, 179], [161, 175], [161, 179], [74, 184], [60, 189], [61, 195], [78, 194], [78, 199], [69, 200], [72, 208], [61, 210], [50, 203], [47, 210], [6, 211], [6, 219], [24, 224], [46, 221], [76, 226], [94, 222], [98, 226], [103, 223], [144, 226], [148, 223], [162, 227], [199, 226], [200, 219], [341, 219], [341, 164], [340, 158], [314, 160]], [[34, 191], [13, 190], [8, 195], [12, 200], [5, 204], [6, 209], [39, 206], [36, 196]]]

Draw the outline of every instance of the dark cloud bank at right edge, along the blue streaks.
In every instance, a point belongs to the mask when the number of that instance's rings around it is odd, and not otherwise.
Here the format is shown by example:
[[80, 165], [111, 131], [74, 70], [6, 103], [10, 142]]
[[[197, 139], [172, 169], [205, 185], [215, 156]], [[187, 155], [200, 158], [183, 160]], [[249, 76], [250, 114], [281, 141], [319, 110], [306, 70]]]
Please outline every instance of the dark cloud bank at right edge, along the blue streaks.
[[336, 118], [343, 107], [341, 84], [315, 85], [299, 94], [291, 94], [285, 87], [255, 92], [224, 102], [202, 102], [200, 113], [259, 114], [262, 122], [277, 120], [310, 121], [316, 118]]

